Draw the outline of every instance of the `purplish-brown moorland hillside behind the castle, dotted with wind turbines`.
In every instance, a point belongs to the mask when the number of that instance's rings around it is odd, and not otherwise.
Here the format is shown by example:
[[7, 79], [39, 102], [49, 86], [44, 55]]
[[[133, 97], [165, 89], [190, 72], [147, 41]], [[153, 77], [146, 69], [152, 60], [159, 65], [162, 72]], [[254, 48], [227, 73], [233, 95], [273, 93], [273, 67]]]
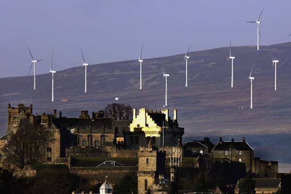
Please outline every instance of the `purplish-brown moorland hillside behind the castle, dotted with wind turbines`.
[[[185, 87], [184, 54], [145, 59], [143, 89], [139, 90], [137, 60], [89, 65], [88, 89], [84, 89], [84, 70], [73, 67], [55, 74], [55, 102], [51, 102], [51, 75], [37, 76], [33, 91], [33, 76], [0, 79], [0, 133], [6, 131], [7, 103], [29, 104], [34, 113], [63, 111], [63, 116], [77, 117], [81, 110], [98, 111], [119, 97], [119, 102], [133, 108], [162, 109], [165, 81], [168, 78], [168, 108], [178, 109], [178, 122], [187, 135], [244, 135], [288, 133], [291, 126], [291, 43], [272, 46], [233, 47], [234, 88], [230, 88], [231, 62], [229, 48], [190, 52], [188, 87]], [[272, 58], [277, 65], [277, 91], [274, 91]], [[253, 103], [250, 105], [248, 76], [255, 62]], [[29, 62], [27, 62], [29, 63]], [[49, 62], [47, 62], [49, 63]], [[74, 64], [76, 65], [76, 64]], [[26, 72], [23, 72], [26, 74]], [[62, 102], [66, 98], [68, 101]], [[243, 107], [243, 109], [242, 109]]]

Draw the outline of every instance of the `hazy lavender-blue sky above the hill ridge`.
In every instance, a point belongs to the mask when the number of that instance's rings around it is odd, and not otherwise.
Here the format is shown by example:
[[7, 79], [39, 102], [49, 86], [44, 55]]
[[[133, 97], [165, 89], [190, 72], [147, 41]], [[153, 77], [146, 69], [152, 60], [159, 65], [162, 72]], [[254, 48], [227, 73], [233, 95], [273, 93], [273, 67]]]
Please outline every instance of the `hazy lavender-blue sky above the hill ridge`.
[[[190, 51], [291, 41], [290, 0], [1, 0], [0, 78]], [[137, 62], [137, 65], [139, 63]]]

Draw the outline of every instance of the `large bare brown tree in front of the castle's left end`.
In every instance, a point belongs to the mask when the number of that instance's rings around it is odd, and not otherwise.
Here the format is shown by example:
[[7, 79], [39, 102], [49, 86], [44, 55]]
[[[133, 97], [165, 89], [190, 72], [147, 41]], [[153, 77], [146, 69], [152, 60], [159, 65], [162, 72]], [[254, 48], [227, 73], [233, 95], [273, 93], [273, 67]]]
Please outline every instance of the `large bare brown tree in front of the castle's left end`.
[[41, 126], [22, 124], [2, 148], [6, 162], [19, 168], [43, 162], [47, 147], [54, 141], [53, 132]]

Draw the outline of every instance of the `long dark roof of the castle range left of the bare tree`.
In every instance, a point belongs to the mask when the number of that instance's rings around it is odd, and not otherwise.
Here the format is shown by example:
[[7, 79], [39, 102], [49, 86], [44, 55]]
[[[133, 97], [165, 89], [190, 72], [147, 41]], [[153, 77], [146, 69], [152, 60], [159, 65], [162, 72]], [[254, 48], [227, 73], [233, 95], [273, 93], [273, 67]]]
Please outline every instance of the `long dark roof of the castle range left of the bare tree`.
[[93, 129], [113, 129], [112, 118], [95, 118], [95, 119], [79, 119], [79, 118], [54, 118], [54, 125], [58, 128], [87, 128], [92, 127]]

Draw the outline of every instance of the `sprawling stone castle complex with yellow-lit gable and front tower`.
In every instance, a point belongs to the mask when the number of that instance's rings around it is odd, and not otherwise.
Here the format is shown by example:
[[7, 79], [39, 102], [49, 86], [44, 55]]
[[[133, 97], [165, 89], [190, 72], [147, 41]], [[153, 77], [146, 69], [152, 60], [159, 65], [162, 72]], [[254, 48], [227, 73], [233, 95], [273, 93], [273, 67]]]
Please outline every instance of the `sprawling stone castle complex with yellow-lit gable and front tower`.
[[[22, 123], [40, 125], [53, 131], [55, 139], [47, 147], [44, 163], [69, 164], [71, 158], [78, 157], [138, 158], [138, 193], [141, 194], [146, 194], [148, 189], [151, 193], [176, 193], [177, 171], [182, 163], [180, 161], [177, 165], [177, 158], [182, 160], [182, 157], [208, 156], [243, 163], [246, 171], [261, 177], [274, 177], [278, 172], [278, 163], [255, 158], [254, 149], [244, 138], [231, 142], [221, 138], [216, 145], [205, 138], [182, 145], [184, 128], [178, 125], [177, 113], [174, 109], [171, 119], [168, 109], [153, 111], [141, 108], [138, 114], [133, 109], [132, 120], [113, 120], [105, 117], [103, 111], [91, 115], [88, 111], [81, 111], [78, 118], [67, 118], [62, 112], [57, 115], [57, 110], [53, 114], [33, 114], [32, 104], [29, 107], [24, 104], [11, 107], [9, 103], [7, 132], [0, 137], [0, 147], [7, 144]], [[173, 148], [179, 154], [175, 156], [175, 164], [174, 158], [171, 158]], [[0, 154], [5, 157], [2, 151]], [[167, 179], [166, 167], [170, 167]]]

